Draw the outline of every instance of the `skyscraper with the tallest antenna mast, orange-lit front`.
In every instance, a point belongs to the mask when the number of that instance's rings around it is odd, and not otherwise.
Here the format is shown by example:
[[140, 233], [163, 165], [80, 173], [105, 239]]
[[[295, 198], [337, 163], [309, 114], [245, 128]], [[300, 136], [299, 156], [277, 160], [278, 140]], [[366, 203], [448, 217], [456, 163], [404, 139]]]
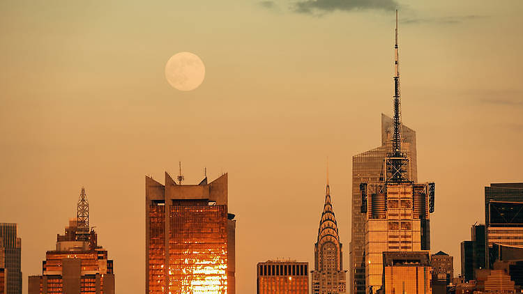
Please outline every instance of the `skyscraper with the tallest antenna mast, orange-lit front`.
[[384, 252], [427, 254], [430, 249], [434, 183], [412, 180], [410, 160], [402, 148], [397, 11], [395, 37], [392, 151], [381, 165], [378, 181], [360, 185], [361, 212], [365, 213], [366, 293], [375, 293], [383, 286]]

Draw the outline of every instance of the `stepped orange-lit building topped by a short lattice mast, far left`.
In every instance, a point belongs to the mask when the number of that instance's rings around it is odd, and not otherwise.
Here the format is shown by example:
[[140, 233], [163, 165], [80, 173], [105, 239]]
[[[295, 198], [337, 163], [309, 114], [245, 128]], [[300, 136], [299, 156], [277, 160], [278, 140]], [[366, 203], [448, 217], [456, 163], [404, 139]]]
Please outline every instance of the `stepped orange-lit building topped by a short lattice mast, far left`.
[[29, 294], [114, 294], [113, 261], [89, 228], [84, 188], [77, 217], [70, 219], [63, 235], [56, 235], [56, 249], [46, 252], [42, 275], [30, 276], [28, 288]]

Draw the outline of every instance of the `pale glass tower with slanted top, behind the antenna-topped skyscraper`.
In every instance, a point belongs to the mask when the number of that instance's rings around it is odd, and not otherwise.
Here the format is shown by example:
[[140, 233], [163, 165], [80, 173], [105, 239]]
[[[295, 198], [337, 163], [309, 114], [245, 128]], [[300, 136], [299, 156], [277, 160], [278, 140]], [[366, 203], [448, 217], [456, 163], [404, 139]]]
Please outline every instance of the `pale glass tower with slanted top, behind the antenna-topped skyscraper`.
[[[349, 244], [349, 288], [351, 293], [365, 293], [365, 214], [361, 213], [361, 183], [385, 183], [383, 164], [392, 152], [392, 118], [381, 114], [381, 146], [352, 157], [351, 242]], [[416, 132], [402, 125], [402, 150], [411, 159], [409, 174], [418, 180]], [[430, 239], [429, 239], [430, 240]]]

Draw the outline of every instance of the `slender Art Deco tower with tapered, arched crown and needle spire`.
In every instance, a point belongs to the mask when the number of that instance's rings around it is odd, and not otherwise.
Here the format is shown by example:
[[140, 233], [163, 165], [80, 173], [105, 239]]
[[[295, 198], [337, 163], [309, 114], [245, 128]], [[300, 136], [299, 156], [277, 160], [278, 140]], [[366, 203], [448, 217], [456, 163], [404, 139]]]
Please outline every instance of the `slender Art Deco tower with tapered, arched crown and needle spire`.
[[312, 294], [346, 293], [346, 276], [347, 271], [343, 270], [342, 243], [331, 201], [331, 188], [327, 183], [324, 211], [321, 213], [318, 238], [314, 244]]

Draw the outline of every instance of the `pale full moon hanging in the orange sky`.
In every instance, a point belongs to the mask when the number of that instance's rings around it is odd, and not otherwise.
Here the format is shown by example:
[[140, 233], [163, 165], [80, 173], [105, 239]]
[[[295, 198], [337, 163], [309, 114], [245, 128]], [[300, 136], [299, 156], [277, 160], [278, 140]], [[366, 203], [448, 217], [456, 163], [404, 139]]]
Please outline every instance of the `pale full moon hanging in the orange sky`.
[[165, 79], [180, 91], [192, 91], [198, 88], [205, 77], [205, 65], [202, 59], [190, 52], [174, 54], [165, 65]]

